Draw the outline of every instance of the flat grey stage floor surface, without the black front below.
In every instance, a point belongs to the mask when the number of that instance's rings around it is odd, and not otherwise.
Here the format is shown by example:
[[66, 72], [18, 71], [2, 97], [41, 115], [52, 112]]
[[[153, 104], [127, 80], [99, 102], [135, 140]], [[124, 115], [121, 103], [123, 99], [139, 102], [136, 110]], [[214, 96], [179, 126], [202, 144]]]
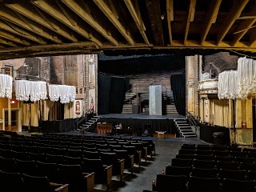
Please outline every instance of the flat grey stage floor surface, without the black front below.
[[149, 115], [149, 114], [100, 114], [99, 118], [139, 118], [139, 119], [175, 119], [186, 118], [183, 115]]

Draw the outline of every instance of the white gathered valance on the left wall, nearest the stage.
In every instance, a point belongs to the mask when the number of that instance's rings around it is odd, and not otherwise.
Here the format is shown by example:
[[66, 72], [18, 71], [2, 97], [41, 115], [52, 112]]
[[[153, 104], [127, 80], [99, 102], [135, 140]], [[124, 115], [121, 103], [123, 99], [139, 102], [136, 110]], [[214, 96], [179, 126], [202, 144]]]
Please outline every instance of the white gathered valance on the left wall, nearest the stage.
[[52, 102], [60, 100], [61, 103], [74, 102], [75, 86], [49, 85], [49, 98]]

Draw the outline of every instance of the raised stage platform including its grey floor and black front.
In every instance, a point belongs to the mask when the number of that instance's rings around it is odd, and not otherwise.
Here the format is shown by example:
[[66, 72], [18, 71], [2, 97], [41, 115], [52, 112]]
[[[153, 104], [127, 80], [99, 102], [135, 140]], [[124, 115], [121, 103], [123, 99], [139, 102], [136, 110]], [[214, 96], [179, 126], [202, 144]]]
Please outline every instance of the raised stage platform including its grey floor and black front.
[[182, 115], [148, 115], [148, 114], [101, 114], [95, 116], [98, 122], [122, 123], [123, 133], [140, 136], [145, 129], [153, 136], [155, 131], [166, 131], [166, 134], [176, 134], [174, 119], [186, 118]]

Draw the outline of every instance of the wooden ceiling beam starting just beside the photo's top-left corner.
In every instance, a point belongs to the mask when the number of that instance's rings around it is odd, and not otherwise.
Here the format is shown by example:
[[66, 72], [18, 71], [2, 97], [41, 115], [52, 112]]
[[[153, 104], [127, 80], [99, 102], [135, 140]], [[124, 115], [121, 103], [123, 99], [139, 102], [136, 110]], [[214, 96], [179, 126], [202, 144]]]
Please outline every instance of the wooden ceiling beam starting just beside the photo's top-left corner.
[[[77, 38], [71, 37], [70, 32], [65, 26], [60, 26], [58, 22], [56, 22], [54, 19], [48, 19], [47, 15], [43, 14], [37, 14], [34, 9], [31, 9], [31, 7], [28, 6], [22, 6], [21, 4], [10, 4], [6, 5], [11, 10], [14, 10], [18, 12], [19, 14], [22, 14], [26, 16], [27, 18], [30, 18], [34, 22], [38, 22], [40, 25], [47, 27], [50, 30], [54, 30], [57, 34], [62, 35], [65, 38], [70, 39], [72, 42], [78, 42]], [[40, 10], [38, 10], [39, 12]], [[44, 17], [44, 18], [43, 18]]]

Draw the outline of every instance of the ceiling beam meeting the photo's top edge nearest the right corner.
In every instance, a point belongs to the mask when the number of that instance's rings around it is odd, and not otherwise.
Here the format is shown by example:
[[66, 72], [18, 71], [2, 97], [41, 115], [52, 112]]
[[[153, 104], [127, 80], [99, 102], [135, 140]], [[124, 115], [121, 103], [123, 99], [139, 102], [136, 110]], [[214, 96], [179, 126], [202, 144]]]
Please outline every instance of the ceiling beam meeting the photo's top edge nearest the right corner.
[[232, 6], [231, 10], [229, 11], [229, 14], [227, 15], [225, 21], [223, 22], [222, 27], [219, 29], [217, 45], [219, 45], [222, 42], [223, 38], [225, 38], [231, 26], [233, 26], [235, 20], [240, 17], [242, 10], [245, 8], [249, 0], [235, 0], [233, 2], [234, 5]]

